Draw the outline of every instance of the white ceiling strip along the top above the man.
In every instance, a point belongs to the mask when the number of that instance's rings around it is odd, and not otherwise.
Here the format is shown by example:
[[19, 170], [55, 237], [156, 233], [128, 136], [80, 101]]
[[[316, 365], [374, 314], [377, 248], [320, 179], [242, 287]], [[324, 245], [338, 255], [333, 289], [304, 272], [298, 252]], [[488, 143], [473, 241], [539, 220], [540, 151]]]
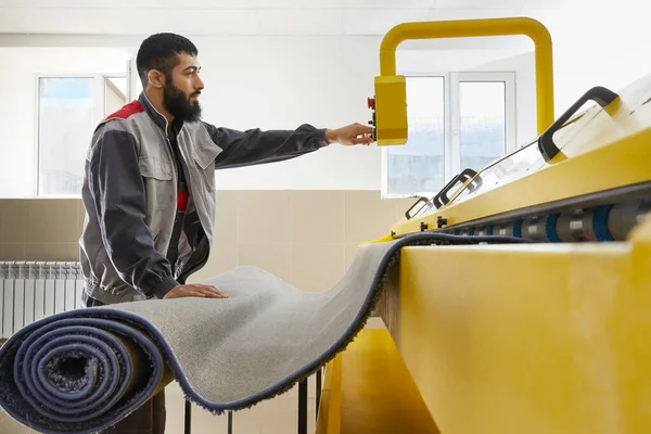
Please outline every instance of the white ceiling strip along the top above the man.
[[577, 0], [0, 0], [0, 34], [384, 35], [410, 21], [547, 24], [570, 1]]

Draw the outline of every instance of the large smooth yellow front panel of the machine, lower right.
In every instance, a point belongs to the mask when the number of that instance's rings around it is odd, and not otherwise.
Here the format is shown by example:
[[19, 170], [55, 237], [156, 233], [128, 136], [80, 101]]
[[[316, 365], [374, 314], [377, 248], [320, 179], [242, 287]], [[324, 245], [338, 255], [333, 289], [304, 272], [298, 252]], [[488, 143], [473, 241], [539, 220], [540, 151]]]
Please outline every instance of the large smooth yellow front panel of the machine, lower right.
[[443, 433], [651, 430], [651, 219], [622, 243], [405, 247], [394, 290]]

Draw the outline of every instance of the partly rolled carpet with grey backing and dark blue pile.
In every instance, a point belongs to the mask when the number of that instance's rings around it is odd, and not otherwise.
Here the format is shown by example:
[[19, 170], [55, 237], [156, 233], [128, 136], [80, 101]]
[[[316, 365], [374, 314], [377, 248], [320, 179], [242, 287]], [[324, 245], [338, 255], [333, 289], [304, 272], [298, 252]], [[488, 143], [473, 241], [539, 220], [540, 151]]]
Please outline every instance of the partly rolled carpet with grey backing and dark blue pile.
[[0, 347], [0, 405], [43, 433], [108, 427], [175, 379], [207, 411], [251, 407], [346, 347], [403, 246], [480, 241], [523, 240], [419, 233], [361, 246], [323, 293], [239, 267], [203, 282], [226, 299], [152, 299], [43, 318]]

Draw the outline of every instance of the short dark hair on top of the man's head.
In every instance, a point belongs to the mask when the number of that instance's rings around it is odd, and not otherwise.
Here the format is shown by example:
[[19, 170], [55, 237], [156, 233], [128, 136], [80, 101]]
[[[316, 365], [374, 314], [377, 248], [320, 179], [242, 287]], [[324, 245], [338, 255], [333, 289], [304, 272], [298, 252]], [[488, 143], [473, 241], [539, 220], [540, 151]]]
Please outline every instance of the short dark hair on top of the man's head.
[[190, 39], [175, 34], [156, 34], [143, 40], [136, 58], [142, 88], [146, 88], [149, 82], [146, 75], [152, 69], [159, 71], [169, 77], [171, 69], [179, 64], [178, 55], [180, 53], [196, 56], [199, 50]]

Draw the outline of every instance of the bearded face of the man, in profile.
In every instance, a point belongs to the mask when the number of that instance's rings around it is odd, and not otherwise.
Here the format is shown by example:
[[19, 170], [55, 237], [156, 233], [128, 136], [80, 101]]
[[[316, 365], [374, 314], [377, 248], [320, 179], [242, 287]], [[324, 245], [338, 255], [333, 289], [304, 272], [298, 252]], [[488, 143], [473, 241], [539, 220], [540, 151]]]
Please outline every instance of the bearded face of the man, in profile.
[[199, 77], [201, 65], [190, 54], [179, 54], [180, 63], [171, 71], [171, 79], [165, 80], [163, 101], [167, 111], [183, 122], [197, 120], [201, 117], [199, 94], [204, 88]]

